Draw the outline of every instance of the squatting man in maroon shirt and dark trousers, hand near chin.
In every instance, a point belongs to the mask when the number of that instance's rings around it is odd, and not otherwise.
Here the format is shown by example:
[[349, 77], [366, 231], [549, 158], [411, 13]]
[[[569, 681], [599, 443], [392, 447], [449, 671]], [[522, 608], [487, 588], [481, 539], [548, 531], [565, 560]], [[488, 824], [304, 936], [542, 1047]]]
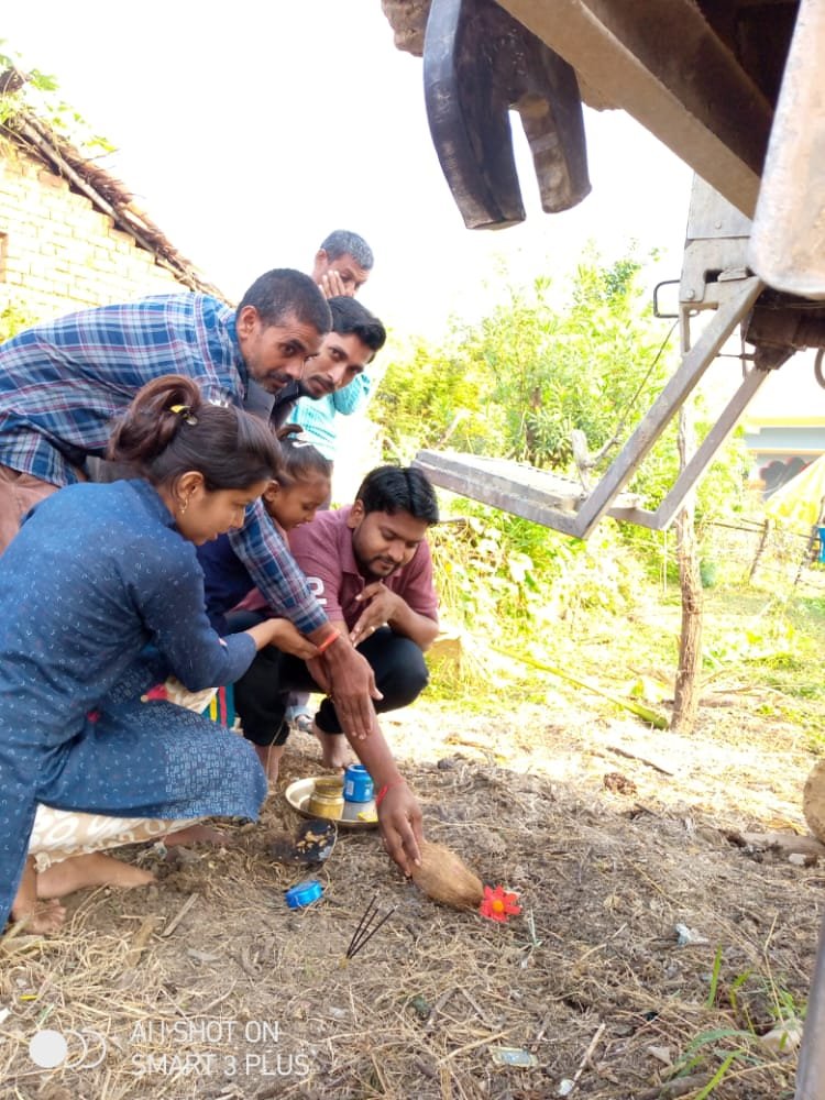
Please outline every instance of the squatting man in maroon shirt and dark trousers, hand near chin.
[[[439, 630], [427, 530], [437, 522], [436, 494], [420, 470], [378, 466], [364, 479], [354, 504], [320, 512], [289, 536], [295, 560], [340, 634], [333, 645], [358, 647], [372, 666], [382, 693], [378, 713], [407, 706], [427, 684], [424, 652]], [[275, 774], [288, 734], [286, 693], [294, 690], [317, 691], [317, 684], [306, 662], [273, 647], [262, 650], [235, 684], [244, 736]], [[343, 767], [346, 740], [329, 697], [315, 716], [314, 732], [324, 766]], [[353, 748], [369, 771], [373, 752], [381, 754], [382, 763], [388, 752], [383, 737], [373, 735]]]

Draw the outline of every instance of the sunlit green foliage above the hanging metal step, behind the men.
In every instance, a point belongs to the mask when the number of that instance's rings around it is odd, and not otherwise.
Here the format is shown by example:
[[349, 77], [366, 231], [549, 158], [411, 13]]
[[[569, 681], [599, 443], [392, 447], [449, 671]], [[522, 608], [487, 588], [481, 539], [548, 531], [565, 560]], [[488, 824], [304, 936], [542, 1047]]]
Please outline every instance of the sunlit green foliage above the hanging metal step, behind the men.
[[[583, 263], [570, 300], [537, 278], [474, 328], [453, 327], [442, 349], [419, 341], [386, 372], [373, 405], [391, 450], [443, 446], [566, 469], [571, 431], [598, 448], [632, 404], [661, 343], [639, 305], [639, 264]], [[650, 384], [661, 383], [664, 366]]]

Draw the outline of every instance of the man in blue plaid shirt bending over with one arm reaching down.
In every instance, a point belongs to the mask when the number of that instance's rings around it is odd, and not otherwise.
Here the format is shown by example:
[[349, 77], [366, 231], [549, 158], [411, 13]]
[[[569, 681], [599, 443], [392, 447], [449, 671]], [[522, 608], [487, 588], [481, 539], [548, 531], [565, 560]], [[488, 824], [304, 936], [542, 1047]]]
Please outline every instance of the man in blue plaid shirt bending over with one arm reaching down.
[[[84, 479], [85, 460], [105, 453], [111, 421], [146, 382], [185, 374], [211, 400], [266, 414], [329, 329], [312, 279], [277, 268], [234, 311], [208, 295], [162, 295], [72, 314], [0, 344], [0, 552], [33, 504]], [[260, 501], [230, 538], [270, 605], [310, 641], [327, 639], [327, 616]], [[91, 568], [94, 554], [90, 547]], [[350, 646], [329, 646], [312, 664], [344, 728], [366, 736], [377, 697], [367, 662]]]

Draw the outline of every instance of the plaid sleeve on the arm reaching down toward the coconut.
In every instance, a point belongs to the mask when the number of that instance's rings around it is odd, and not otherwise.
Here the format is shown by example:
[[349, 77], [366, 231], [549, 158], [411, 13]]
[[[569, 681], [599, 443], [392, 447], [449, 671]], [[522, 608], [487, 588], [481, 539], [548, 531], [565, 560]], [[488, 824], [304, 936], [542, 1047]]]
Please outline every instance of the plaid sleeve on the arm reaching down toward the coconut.
[[301, 634], [323, 626], [327, 615], [261, 501], [252, 505], [243, 527], [230, 531], [229, 541], [274, 612], [288, 618]]

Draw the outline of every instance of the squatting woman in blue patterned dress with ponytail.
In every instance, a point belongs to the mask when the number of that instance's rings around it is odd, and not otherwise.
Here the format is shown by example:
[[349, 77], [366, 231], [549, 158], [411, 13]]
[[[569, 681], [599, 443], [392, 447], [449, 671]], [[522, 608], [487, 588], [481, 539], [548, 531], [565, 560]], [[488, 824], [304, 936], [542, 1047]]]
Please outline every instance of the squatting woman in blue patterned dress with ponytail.
[[[15, 895], [38, 803], [182, 824], [256, 818], [266, 782], [255, 754], [191, 711], [142, 701], [147, 688], [169, 673], [190, 691], [229, 683], [267, 645], [317, 653], [285, 619], [220, 638], [205, 612], [195, 546], [240, 527], [276, 472], [264, 421], [168, 375], [140, 391], [109, 457], [144, 479], [61, 490], [0, 558], [0, 928], [37, 893], [109, 881], [107, 864], [123, 881], [123, 865], [100, 855], [42, 881], [30, 861]], [[61, 915], [55, 903], [35, 927]]]

